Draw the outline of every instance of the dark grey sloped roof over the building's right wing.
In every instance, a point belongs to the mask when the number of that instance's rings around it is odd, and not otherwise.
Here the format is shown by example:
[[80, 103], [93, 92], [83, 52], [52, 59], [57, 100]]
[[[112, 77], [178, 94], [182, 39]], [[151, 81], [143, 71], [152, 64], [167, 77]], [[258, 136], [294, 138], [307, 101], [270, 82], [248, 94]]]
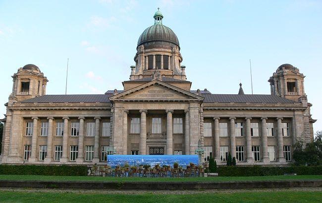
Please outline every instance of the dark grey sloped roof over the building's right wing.
[[201, 96], [205, 98], [204, 103], [295, 103], [283, 97], [266, 94], [202, 94]]

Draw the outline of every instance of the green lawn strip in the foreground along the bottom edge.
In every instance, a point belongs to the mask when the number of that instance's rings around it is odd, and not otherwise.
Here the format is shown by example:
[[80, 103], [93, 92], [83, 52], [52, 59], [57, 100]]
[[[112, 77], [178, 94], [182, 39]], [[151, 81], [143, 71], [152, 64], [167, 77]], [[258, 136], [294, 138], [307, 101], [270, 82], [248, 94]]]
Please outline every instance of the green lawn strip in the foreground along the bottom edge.
[[322, 192], [238, 192], [193, 195], [0, 192], [1, 203], [321, 203]]

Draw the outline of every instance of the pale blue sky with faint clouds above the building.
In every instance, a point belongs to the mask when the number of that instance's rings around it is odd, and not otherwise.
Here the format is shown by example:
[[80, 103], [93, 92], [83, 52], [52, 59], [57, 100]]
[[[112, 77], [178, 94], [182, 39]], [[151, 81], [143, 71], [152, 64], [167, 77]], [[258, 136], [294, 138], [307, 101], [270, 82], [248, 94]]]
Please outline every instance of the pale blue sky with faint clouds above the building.
[[26, 64], [48, 77], [47, 94], [64, 94], [67, 58], [67, 93], [122, 89], [157, 7], [178, 36], [192, 89], [234, 94], [242, 82], [251, 93], [251, 59], [254, 93], [269, 94], [269, 76], [289, 63], [306, 75], [314, 128], [322, 130], [321, 0], [0, 0], [0, 101]]

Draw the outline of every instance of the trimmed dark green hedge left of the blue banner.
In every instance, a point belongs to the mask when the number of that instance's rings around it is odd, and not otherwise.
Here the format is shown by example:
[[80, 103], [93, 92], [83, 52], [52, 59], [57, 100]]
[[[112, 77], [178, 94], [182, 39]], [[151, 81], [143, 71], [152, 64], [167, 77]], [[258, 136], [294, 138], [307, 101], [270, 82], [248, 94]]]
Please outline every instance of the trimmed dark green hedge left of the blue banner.
[[0, 165], [1, 175], [87, 176], [87, 166]]

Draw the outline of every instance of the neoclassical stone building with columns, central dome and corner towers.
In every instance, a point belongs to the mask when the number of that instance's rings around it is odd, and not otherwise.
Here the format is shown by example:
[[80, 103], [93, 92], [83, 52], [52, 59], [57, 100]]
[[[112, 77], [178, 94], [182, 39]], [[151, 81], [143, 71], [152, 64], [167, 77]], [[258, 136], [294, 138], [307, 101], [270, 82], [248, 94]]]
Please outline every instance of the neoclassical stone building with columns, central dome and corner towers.
[[[140, 36], [135, 66], [123, 90], [96, 95], [48, 95], [48, 79], [35, 65], [13, 74], [5, 104], [0, 163], [105, 164], [117, 154], [194, 154], [238, 165], [283, 165], [292, 144], [313, 139], [304, 75], [289, 64], [269, 78], [270, 95], [212, 94], [191, 90], [177, 36], [163, 25]], [[199, 141], [200, 140], [200, 141]]]

